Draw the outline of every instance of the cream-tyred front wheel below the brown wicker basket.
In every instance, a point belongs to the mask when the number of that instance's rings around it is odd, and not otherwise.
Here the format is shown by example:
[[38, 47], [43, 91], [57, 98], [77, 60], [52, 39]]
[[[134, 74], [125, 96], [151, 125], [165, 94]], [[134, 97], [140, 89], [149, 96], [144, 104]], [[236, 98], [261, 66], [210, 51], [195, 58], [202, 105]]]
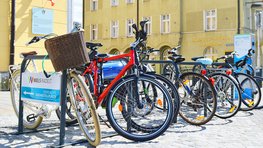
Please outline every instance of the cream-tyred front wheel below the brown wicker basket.
[[99, 118], [89, 88], [83, 79], [71, 71], [67, 87], [80, 129], [89, 143], [97, 146], [101, 141]]

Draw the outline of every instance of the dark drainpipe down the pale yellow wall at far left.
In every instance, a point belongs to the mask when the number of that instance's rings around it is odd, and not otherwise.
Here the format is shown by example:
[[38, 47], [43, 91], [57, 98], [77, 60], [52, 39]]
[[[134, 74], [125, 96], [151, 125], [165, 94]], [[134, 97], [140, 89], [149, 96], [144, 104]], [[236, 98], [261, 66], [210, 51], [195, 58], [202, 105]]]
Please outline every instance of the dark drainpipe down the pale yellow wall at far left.
[[15, 56], [15, 5], [16, 1], [12, 0], [11, 2], [11, 28], [10, 28], [10, 59], [9, 59], [9, 65], [14, 64], [14, 56]]

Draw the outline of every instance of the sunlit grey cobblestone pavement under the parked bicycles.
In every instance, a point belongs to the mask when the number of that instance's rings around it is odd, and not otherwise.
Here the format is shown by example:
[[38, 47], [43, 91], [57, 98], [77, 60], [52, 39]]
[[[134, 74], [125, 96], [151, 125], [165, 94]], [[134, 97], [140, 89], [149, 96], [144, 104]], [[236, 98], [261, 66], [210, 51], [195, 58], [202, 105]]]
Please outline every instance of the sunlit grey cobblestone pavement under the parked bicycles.
[[[262, 103], [261, 103], [262, 105]], [[105, 115], [102, 115], [105, 116]], [[44, 120], [41, 128], [59, 125], [53, 114]], [[114, 134], [113, 129], [104, 124], [101, 126], [103, 136]], [[58, 144], [59, 128], [37, 133], [15, 135], [17, 117], [14, 114], [8, 91], [0, 92], [0, 147], [49, 147]], [[66, 143], [83, 139], [78, 126], [67, 127]], [[76, 145], [90, 147], [87, 143]], [[67, 146], [71, 147], [71, 146]], [[98, 147], [263, 147], [263, 109], [250, 112], [239, 112], [235, 117], [222, 120], [214, 117], [203, 126], [192, 126], [180, 118], [171, 125], [163, 136], [155, 140], [138, 143], [121, 136], [103, 138]]]

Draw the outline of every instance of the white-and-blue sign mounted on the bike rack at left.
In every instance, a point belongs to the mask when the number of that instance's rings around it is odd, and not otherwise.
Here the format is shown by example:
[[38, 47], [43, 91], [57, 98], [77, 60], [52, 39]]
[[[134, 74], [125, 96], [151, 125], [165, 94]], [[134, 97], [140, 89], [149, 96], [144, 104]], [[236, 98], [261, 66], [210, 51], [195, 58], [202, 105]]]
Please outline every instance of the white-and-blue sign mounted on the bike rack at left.
[[43, 72], [22, 73], [21, 99], [60, 105], [61, 74], [46, 78]]

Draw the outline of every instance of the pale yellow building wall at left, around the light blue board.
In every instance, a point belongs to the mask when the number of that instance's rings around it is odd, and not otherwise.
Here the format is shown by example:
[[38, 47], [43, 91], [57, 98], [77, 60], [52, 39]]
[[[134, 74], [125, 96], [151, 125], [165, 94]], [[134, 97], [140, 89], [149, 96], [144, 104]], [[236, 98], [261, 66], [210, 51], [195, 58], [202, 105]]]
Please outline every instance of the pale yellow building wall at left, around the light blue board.
[[[53, 10], [53, 32], [61, 35], [67, 33], [67, 1], [59, 1], [51, 6], [50, 1], [47, 0], [16, 0], [15, 5], [14, 63], [19, 64], [22, 61], [19, 56], [21, 52], [36, 51], [38, 54], [46, 54], [44, 42], [25, 45], [34, 36], [42, 35], [32, 33], [32, 8]], [[0, 72], [6, 72], [10, 61], [11, 0], [0, 1], [0, 12], [3, 26], [0, 29], [2, 50]]]

